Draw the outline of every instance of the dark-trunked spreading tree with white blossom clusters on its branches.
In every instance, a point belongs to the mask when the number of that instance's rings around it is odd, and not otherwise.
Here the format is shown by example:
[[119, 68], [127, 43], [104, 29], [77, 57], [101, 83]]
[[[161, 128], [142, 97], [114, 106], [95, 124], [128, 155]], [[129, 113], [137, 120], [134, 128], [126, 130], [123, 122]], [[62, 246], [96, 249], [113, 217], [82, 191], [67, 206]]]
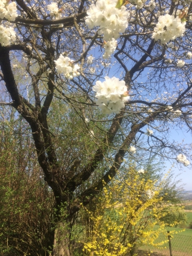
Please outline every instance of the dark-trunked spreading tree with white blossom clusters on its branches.
[[[130, 2], [0, 2], [0, 105], [30, 126], [56, 200], [54, 222], [64, 207], [69, 226], [53, 255], [70, 255], [67, 241], [81, 203], [89, 204], [128, 155], [141, 164], [157, 155], [189, 165], [190, 147], [168, 133], [191, 131], [192, 4]], [[69, 110], [66, 126], [53, 127], [49, 118], [55, 100]], [[52, 249], [57, 231], [55, 225]]]

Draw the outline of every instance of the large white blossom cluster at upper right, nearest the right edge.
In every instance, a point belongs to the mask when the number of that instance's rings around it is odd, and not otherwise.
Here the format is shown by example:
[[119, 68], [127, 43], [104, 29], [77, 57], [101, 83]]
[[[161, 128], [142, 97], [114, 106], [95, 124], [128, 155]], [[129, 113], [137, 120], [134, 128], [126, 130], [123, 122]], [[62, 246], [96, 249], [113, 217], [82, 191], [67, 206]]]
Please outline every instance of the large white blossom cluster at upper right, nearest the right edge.
[[169, 40], [174, 40], [176, 37], [181, 37], [185, 32], [186, 22], [182, 22], [177, 16], [166, 14], [159, 16], [158, 23], [154, 28], [152, 38], [156, 41], [161, 40], [161, 43], [168, 43]]

